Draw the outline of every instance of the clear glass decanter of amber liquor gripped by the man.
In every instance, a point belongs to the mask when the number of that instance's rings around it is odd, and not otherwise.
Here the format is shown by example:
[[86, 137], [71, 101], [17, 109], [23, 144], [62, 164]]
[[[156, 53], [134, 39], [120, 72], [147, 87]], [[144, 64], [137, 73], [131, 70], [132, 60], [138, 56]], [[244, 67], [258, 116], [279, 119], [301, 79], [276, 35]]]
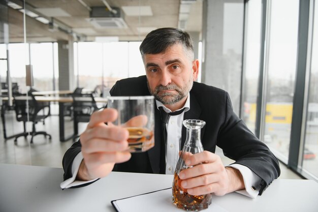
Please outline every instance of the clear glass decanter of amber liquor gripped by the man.
[[184, 120], [182, 124], [186, 128], [186, 140], [174, 172], [172, 201], [177, 207], [184, 210], [199, 211], [208, 208], [209, 204], [211, 204], [212, 195], [195, 196], [188, 194], [186, 189], [181, 188], [179, 172], [183, 169], [190, 168], [185, 165], [185, 160], [188, 156], [203, 152], [200, 136], [201, 129], [205, 126], [205, 122], [203, 120], [187, 119]]

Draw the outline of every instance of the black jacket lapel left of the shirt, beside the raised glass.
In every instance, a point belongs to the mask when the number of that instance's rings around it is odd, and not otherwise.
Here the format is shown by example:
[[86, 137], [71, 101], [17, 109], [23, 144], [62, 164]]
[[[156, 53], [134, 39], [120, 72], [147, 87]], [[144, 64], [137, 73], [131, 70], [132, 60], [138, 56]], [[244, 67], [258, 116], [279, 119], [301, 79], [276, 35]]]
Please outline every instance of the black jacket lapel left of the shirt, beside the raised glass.
[[161, 118], [160, 111], [156, 104], [154, 108], [154, 147], [148, 150], [148, 157], [153, 173], [160, 173], [160, 154], [161, 154]]

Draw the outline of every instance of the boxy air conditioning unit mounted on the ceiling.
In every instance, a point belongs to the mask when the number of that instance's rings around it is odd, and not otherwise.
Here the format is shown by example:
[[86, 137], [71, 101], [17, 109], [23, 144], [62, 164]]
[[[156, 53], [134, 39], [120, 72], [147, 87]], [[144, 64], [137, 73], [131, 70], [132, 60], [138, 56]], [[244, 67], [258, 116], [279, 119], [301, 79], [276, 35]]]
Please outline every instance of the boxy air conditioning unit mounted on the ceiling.
[[119, 8], [112, 9], [116, 12], [109, 11], [107, 7], [92, 7], [88, 21], [97, 28], [126, 28], [123, 13]]

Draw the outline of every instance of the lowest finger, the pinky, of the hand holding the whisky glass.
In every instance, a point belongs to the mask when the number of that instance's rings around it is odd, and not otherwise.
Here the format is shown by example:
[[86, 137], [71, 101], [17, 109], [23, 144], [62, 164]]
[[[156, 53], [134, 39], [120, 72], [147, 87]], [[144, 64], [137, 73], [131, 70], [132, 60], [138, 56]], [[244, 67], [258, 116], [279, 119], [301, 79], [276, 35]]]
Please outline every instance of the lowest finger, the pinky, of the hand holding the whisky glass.
[[93, 153], [83, 154], [85, 163], [93, 164], [94, 166], [102, 165], [106, 163], [122, 163], [128, 161], [132, 154], [130, 152], [113, 152], [113, 153]]

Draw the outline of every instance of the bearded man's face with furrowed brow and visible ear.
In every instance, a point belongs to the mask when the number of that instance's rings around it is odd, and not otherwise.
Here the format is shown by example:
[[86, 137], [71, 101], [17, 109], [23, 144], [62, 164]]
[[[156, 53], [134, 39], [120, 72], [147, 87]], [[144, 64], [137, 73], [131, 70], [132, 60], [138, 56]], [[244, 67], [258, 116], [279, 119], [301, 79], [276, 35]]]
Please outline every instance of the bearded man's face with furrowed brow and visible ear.
[[148, 88], [151, 95], [164, 105], [173, 105], [185, 97], [198, 76], [198, 60], [192, 61], [181, 44], [164, 53], [145, 54]]

